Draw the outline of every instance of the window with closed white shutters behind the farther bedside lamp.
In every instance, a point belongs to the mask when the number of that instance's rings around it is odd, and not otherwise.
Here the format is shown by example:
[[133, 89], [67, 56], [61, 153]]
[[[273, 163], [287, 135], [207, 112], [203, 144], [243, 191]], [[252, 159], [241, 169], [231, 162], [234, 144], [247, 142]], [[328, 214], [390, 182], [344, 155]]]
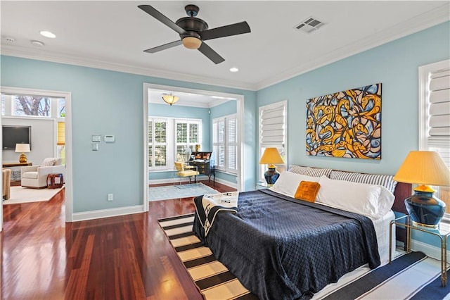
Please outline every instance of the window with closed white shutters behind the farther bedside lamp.
[[[286, 170], [288, 161], [288, 101], [259, 107], [259, 158], [268, 147], [276, 147], [285, 164], [276, 165], [278, 172]], [[258, 160], [259, 161], [259, 160]], [[264, 181], [267, 165], [259, 165], [259, 180]]]

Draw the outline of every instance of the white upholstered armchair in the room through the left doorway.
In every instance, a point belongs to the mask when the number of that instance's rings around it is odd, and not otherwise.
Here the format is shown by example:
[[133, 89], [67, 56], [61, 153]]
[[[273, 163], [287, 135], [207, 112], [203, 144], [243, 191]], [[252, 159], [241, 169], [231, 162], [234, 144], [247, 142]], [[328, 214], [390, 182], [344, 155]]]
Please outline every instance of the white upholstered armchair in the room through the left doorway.
[[65, 165], [62, 158], [45, 158], [41, 165], [28, 165], [22, 167], [21, 185], [41, 189], [47, 187], [49, 174], [63, 174]]

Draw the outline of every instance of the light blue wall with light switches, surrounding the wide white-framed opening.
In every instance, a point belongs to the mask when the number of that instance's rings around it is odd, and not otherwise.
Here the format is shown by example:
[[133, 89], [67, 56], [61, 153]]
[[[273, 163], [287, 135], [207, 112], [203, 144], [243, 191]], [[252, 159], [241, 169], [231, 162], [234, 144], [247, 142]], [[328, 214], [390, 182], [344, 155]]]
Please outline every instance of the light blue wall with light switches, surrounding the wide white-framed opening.
[[[1, 56], [1, 86], [72, 92], [74, 213], [143, 204], [143, 83], [245, 97], [245, 126], [255, 120], [255, 92], [63, 63]], [[91, 151], [91, 135], [115, 135]], [[245, 189], [255, 186], [255, 132], [245, 135]], [[89, 192], [86, 192], [89, 191]], [[108, 193], [114, 201], [106, 201]]]

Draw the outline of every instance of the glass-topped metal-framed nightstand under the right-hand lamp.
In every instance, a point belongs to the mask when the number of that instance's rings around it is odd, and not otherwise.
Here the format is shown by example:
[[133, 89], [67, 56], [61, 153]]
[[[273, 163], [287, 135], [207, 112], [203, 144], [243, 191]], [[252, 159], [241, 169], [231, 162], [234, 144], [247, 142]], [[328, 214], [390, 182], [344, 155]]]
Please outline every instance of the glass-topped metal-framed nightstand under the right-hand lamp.
[[[404, 221], [404, 223], [401, 223]], [[403, 215], [396, 218], [390, 222], [389, 225], [389, 244], [392, 245], [392, 225], [397, 225], [406, 228], [406, 252], [411, 252], [411, 230], [419, 230], [421, 232], [426, 232], [430, 235], [435, 235], [441, 240], [441, 286], [446, 287], [447, 285], [447, 242], [450, 235], [450, 225], [439, 224], [437, 228], [425, 227], [416, 225], [412, 222], [409, 215]], [[389, 263], [392, 262], [392, 247], [389, 247]]]

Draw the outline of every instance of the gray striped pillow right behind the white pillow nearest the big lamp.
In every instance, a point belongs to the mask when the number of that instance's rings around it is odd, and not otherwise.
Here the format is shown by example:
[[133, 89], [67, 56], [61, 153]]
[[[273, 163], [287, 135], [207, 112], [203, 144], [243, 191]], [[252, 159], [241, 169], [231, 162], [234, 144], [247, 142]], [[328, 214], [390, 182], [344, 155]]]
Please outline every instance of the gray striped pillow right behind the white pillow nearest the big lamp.
[[392, 194], [394, 194], [395, 186], [397, 185], [397, 181], [394, 180], [394, 175], [376, 175], [333, 170], [330, 174], [330, 179], [366, 183], [368, 185], [382, 185], [392, 192]]

